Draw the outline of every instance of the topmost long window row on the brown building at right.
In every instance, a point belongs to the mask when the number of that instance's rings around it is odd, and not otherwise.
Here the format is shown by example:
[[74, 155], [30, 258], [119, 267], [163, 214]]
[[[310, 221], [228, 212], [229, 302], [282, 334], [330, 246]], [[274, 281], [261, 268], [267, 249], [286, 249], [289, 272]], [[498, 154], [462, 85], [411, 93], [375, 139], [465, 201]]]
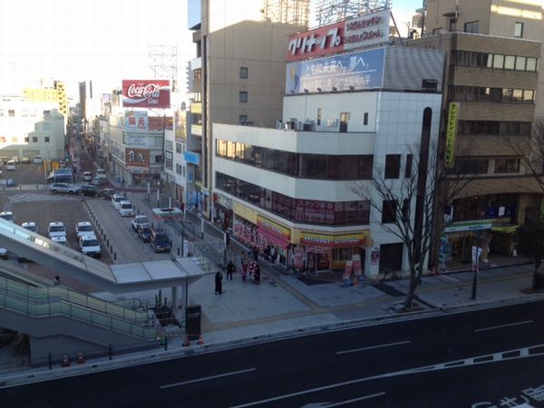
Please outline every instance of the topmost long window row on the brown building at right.
[[538, 58], [501, 53], [481, 53], [477, 51], [452, 51], [452, 65], [499, 70], [529, 71], [535, 73]]

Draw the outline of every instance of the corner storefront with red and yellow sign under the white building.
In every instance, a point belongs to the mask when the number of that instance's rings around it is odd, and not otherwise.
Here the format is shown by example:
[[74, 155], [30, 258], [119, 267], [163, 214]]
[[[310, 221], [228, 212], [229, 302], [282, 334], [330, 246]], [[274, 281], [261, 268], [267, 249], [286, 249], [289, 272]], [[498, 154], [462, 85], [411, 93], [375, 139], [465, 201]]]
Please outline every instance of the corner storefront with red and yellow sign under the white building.
[[354, 258], [364, 259], [365, 247], [370, 245], [368, 234], [368, 231], [342, 235], [300, 231], [306, 267], [316, 271], [344, 269]]

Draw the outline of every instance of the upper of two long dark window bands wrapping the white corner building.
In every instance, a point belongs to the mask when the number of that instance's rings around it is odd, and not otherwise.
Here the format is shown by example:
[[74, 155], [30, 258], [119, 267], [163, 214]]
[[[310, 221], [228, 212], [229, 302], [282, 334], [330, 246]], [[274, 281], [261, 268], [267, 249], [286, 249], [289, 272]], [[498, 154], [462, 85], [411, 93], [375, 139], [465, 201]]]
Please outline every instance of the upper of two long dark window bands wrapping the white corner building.
[[216, 140], [216, 156], [301, 179], [372, 179], [372, 155], [294, 153], [237, 141]]

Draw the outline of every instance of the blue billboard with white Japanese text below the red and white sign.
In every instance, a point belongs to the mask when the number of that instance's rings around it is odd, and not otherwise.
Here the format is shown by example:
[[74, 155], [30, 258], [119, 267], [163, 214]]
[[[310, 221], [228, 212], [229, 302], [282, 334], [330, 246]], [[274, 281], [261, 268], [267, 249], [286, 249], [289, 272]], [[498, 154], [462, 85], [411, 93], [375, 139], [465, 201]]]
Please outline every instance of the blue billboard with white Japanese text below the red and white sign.
[[286, 95], [383, 88], [384, 48], [287, 63]]

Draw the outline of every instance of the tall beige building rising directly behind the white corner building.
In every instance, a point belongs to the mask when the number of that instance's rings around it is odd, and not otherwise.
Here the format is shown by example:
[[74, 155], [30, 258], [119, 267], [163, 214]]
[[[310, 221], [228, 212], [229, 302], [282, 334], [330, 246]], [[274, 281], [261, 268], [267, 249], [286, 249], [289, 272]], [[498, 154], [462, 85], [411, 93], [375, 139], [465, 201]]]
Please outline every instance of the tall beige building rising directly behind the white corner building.
[[[212, 122], [273, 126], [281, 116], [287, 37], [306, 29], [309, 0], [189, 0], [187, 197], [209, 216]], [[218, 205], [220, 205], [218, 203]], [[228, 210], [228, 209], [226, 209]]]

